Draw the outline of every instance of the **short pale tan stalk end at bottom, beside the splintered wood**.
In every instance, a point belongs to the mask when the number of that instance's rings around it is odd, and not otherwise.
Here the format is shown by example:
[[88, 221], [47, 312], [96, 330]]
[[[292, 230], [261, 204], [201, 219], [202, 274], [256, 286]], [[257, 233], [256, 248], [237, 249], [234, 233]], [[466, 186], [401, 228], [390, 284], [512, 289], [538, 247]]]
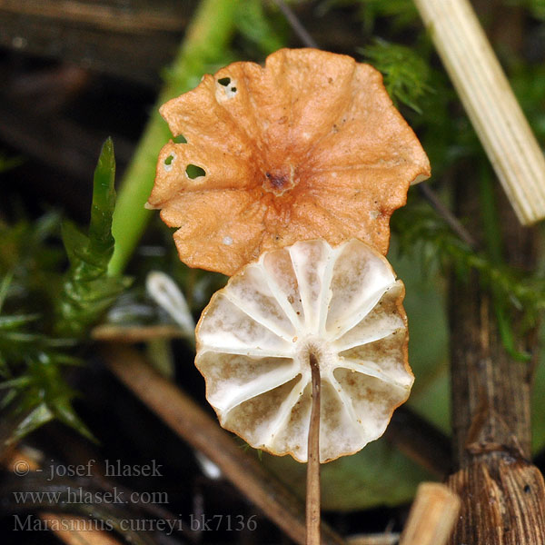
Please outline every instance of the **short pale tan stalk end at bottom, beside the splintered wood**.
[[400, 545], [444, 545], [460, 510], [460, 498], [444, 484], [423, 482], [416, 491]]

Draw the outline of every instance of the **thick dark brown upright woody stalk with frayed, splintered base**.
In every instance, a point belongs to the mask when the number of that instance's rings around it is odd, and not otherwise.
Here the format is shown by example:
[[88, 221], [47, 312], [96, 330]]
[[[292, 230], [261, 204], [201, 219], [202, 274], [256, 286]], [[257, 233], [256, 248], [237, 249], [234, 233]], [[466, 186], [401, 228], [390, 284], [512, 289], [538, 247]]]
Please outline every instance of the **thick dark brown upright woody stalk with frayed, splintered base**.
[[[481, 200], [475, 175], [456, 186], [457, 213], [482, 237]], [[499, 223], [507, 263], [525, 268], [535, 259], [535, 233], [523, 229], [505, 195]], [[512, 327], [517, 327], [517, 317]], [[508, 353], [501, 341], [493, 297], [475, 275], [452, 279], [450, 288], [453, 451], [458, 471], [448, 480], [461, 497], [450, 544], [545, 543], [545, 485], [530, 463], [532, 368]], [[532, 334], [518, 335], [515, 349], [538, 353]]]

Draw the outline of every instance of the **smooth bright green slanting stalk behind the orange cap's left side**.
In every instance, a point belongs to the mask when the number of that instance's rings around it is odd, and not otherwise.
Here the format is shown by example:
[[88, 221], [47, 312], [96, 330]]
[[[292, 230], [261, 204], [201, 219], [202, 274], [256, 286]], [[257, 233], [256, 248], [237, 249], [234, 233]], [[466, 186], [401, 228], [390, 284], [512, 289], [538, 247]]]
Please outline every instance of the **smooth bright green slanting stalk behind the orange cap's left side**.
[[206, 67], [224, 55], [235, 26], [240, 0], [203, 0], [187, 29], [163, 91], [140, 139], [133, 161], [124, 174], [114, 213], [112, 231], [115, 250], [109, 265], [111, 275], [121, 274], [144, 233], [151, 211], [144, 209], [152, 191], [157, 155], [172, 137], [158, 113], [159, 106], [188, 91]]

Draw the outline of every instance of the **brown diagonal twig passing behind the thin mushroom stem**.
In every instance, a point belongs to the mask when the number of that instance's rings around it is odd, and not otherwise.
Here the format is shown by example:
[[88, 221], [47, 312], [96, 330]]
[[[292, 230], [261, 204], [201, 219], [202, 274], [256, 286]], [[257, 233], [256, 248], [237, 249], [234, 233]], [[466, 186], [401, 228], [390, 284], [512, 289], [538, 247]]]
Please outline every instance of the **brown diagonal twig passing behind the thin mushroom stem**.
[[[104, 354], [109, 369], [175, 433], [203, 452], [223, 475], [297, 543], [305, 542], [301, 500], [236, 445], [227, 431], [171, 382], [163, 379], [134, 349], [112, 345]], [[322, 545], [342, 538], [322, 522]]]

